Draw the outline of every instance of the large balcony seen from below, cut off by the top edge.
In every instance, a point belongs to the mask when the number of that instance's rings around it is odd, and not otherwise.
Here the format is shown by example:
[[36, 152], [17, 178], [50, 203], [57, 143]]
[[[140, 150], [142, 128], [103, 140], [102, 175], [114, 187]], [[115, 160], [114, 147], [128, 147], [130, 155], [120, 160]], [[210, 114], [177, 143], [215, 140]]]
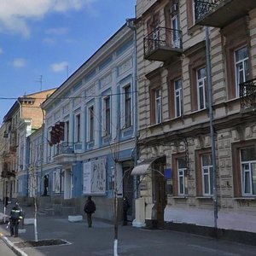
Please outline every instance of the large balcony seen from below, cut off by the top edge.
[[255, 0], [195, 0], [195, 24], [224, 27], [254, 8]]

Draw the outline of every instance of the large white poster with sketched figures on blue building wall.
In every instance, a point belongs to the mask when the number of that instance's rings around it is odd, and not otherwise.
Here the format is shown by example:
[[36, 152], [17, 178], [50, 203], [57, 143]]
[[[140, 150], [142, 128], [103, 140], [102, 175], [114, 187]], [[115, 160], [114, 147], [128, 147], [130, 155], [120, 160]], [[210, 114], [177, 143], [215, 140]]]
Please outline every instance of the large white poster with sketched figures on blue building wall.
[[106, 193], [106, 160], [84, 163], [83, 193], [102, 195]]

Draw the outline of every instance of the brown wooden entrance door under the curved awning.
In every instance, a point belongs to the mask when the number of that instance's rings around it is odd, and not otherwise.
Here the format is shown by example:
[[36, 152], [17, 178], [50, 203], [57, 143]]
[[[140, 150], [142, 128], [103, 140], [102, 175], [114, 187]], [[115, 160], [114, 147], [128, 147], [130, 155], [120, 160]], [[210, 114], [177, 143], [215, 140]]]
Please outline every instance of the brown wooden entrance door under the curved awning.
[[164, 168], [161, 163], [154, 163], [153, 165], [153, 177], [154, 177], [154, 190], [153, 199], [154, 207], [156, 209], [157, 227], [164, 228], [164, 213], [166, 207], [166, 189], [165, 189], [165, 177]]

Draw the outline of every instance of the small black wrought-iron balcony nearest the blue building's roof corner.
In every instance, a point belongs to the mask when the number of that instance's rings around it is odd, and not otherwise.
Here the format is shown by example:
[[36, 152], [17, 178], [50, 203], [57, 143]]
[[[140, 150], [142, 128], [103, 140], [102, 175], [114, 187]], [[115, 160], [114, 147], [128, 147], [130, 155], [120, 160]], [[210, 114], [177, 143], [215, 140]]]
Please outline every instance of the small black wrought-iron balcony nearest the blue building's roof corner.
[[159, 26], [144, 38], [144, 58], [148, 61], [167, 61], [182, 51], [180, 30]]

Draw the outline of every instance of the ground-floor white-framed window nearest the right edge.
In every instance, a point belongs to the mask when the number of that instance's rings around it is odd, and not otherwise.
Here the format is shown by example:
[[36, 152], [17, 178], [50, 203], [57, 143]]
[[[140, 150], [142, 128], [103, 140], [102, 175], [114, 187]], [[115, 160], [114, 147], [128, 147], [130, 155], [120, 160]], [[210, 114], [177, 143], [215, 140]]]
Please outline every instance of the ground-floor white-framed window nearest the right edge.
[[256, 195], [256, 149], [241, 149], [241, 191], [243, 196]]

